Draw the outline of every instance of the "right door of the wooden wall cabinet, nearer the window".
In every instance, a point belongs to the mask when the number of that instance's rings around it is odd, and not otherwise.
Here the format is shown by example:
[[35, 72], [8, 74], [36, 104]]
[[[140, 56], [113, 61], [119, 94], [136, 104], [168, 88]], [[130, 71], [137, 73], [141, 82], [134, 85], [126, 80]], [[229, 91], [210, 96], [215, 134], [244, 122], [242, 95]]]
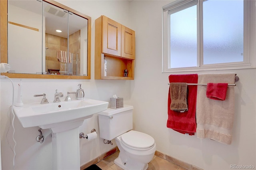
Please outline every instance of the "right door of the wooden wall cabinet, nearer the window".
[[135, 31], [122, 26], [122, 57], [135, 59]]

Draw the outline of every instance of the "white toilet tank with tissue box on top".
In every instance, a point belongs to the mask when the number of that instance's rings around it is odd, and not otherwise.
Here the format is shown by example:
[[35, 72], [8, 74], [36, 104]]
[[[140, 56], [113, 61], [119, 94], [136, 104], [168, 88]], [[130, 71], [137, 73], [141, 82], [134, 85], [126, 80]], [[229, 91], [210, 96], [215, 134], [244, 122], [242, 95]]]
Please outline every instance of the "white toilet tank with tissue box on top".
[[106, 109], [98, 113], [100, 138], [112, 140], [132, 129], [133, 106], [124, 105], [120, 109]]

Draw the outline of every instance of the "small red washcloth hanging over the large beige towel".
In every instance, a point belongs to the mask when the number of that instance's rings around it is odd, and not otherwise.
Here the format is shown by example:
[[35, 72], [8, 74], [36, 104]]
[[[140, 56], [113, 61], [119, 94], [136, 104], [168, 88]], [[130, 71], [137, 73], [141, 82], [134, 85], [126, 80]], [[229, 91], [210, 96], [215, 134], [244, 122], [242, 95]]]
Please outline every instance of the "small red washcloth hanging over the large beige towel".
[[225, 100], [228, 83], [207, 83], [206, 97], [214, 100]]

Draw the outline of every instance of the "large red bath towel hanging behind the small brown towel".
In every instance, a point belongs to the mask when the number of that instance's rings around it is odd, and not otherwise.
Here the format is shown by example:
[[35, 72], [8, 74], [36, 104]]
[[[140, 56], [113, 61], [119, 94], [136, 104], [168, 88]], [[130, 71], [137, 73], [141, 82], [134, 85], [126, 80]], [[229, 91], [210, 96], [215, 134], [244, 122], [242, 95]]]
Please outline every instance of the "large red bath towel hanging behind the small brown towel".
[[[169, 75], [170, 83], [197, 83], [197, 74]], [[188, 111], [180, 113], [170, 109], [170, 88], [168, 94], [168, 120], [167, 127], [182, 134], [194, 135], [196, 132], [196, 94], [197, 85], [188, 85]]]

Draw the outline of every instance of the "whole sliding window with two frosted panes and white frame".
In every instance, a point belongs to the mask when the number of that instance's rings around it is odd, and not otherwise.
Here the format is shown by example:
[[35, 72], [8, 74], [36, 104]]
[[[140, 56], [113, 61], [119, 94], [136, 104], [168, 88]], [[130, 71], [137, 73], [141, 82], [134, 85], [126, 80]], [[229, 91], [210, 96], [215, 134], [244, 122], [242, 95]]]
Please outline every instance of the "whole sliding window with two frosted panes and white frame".
[[163, 72], [253, 68], [255, 24], [250, 20], [255, 11], [250, 3], [176, 0], [164, 6]]

